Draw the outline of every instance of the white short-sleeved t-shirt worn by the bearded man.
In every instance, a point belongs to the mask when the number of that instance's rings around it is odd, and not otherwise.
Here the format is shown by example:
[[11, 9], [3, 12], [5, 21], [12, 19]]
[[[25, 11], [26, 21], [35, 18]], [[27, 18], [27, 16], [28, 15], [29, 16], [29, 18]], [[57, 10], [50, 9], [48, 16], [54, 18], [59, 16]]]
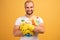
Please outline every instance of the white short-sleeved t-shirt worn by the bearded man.
[[[25, 21], [27, 23], [30, 23], [32, 25], [40, 25], [41, 23], [43, 23], [43, 20], [41, 17], [38, 16], [32, 16], [31, 18], [28, 18], [26, 16], [22, 16], [16, 19], [15, 25], [19, 25], [22, 24], [22, 21]], [[35, 22], [35, 23], [34, 23]], [[36, 33], [34, 36], [31, 37], [20, 37], [20, 40], [38, 40], [37, 37], [38, 33]]]

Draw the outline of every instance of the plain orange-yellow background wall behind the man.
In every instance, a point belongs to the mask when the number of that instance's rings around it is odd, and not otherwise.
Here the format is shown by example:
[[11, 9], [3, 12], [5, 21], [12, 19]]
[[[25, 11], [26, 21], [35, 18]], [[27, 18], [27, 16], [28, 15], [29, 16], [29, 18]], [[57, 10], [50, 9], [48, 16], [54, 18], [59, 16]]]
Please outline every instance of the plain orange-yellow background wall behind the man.
[[[19, 40], [13, 36], [16, 18], [25, 14], [26, 0], [0, 0], [0, 40]], [[45, 33], [39, 40], [60, 40], [60, 0], [33, 0], [34, 14], [43, 18]]]

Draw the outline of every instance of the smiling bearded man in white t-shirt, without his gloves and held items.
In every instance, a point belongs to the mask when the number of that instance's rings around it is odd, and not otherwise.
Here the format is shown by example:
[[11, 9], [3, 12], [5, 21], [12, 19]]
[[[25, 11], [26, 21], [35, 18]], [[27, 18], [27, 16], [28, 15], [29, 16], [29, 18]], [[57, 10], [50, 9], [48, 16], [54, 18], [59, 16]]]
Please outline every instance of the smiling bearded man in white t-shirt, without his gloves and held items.
[[[44, 33], [44, 23], [42, 18], [33, 15], [33, 11], [34, 11], [33, 1], [25, 2], [25, 11], [26, 11], [25, 16], [17, 18], [15, 22], [14, 30], [13, 30], [14, 36], [20, 37], [20, 40], [38, 40], [38, 37], [37, 37], [38, 33], [41, 33], [41, 34]], [[26, 22], [32, 19], [36, 19], [38, 21], [38, 25], [35, 25], [33, 30], [35, 32], [34, 36], [26, 37], [22, 34], [22, 31], [20, 30], [20, 24], [22, 19], [25, 20]], [[34, 24], [32, 23], [32, 25]]]

